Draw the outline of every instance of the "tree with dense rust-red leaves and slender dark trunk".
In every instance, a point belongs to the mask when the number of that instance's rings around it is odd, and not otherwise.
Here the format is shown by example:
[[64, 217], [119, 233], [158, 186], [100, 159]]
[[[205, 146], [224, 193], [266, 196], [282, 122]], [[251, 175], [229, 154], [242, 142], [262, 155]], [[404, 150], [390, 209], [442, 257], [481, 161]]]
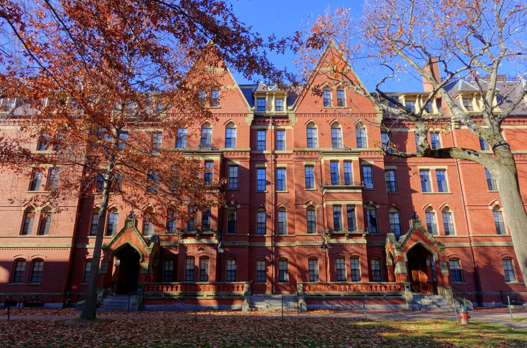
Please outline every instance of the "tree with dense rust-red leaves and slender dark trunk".
[[218, 204], [197, 180], [199, 162], [160, 147], [162, 138], [211, 116], [203, 95], [225, 63], [246, 77], [279, 72], [223, 1], [7, 0], [0, 17], [0, 93], [16, 100], [8, 114], [17, 126], [0, 134], [2, 169], [48, 176], [51, 194], [31, 199], [57, 210], [100, 194], [81, 314], [91, 320], [110, 193], [136, 211], [148, 205], [159, 225]]

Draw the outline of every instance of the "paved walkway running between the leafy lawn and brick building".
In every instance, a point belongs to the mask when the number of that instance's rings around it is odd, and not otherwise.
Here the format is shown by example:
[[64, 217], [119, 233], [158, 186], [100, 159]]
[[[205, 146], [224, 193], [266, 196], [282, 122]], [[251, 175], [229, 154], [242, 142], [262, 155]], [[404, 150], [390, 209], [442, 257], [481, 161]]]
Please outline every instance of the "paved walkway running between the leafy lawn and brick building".
[[[99, 318], [115, 318], [115, 319], [150, 319], [153, 320], [156, 317], [167, 317], [167, 311], [155, 312], [155, 311], [143, 311], [143, 312], [99, 312], [97, 316]], [[207, 311], [198, 312], [198, 315], [214, 315], [217, 312]], [[219, 314], [220, 312], [218, 312]], [[11, 320], [69, 320], [79, 317], [80, 312], [73, 310], [38, 310], [31, 312], [31, 310], [13, 310], [10, 315]], [[159, 315], [157, 315], [159, 314]], [[194, 314], [191, 312], [190, 314]], [[188, 316], [189, 312], [177, 312], [171, 311], [170, 317], [174, 316]], [[281, 312], [221, 312], [221, 315], [262, 315], [262, 316], [281, 316]], [[470, 321], [484, 322], [499, 324], [516, 328], [518, 330], [527, 331], [527, 308], [515, 308], [512, 310], [512, 317], [514, 319], [524, 318], [523, 321], [511, 320], [511, 313], [508, 308], [476, 308], [469, 312], [471, 316]], [[362, 311], [312, 311], [312, 312], [284, 312], [284, 316], [301, 317], [301, 316], [336, 316], [343, 318], [364, 318], [364, 312]], [[366, 311], [366, 317], [368, 319], [393, 319], [393, 320], [431, 320], [431, 319], [445, 319], [445, 320], [457, 320], [455, 313], [452, 312], [410, 312], [410, 311]], [[7, 313], [2, 311], [0, 313], [0, 321], [7, 321]]]

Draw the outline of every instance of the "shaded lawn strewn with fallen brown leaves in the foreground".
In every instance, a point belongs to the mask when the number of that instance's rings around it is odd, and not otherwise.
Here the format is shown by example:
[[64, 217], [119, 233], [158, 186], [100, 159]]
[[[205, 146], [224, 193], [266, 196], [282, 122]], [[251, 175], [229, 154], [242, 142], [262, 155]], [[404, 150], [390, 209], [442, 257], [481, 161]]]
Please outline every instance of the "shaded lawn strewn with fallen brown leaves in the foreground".
[[[72, 318], [78, 312], [62, 310], [51, 312], [45, 320], [16, 319], [29, 313], [40, 314], [18, 311], [10, 322], [2, 321], [0, 346], [527, 346], [524, 331], [477, 322], [461, 326], [452, 320], [312, 316], [325, 314], [317, 312], [283, 319], [261, 312], [201, 312], [197, 317], [192, 312], [109, 312], [97, 314], [94, 322], [80, 322]], [[53, 315], [69, 318], [51, 320]]]

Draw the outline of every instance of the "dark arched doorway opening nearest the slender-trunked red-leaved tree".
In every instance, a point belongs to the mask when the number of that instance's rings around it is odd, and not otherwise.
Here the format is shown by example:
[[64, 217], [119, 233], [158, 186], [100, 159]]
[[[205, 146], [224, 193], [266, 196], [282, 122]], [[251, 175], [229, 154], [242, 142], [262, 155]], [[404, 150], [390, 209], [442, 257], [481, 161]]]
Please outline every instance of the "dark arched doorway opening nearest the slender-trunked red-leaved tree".
[[129, 294], [137, 291], [140, 260], [141, 256], [130, 245], [124, 246], [115, 254], [113, 281], [116, 283], [118, 294]]

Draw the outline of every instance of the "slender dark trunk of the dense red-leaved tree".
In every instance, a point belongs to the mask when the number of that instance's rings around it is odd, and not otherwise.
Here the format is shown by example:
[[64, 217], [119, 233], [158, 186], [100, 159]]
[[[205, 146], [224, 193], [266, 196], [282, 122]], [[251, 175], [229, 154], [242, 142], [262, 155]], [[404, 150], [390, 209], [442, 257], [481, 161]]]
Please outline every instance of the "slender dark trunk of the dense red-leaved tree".
[[97, 234], [95, 235], [95, 245], [93, 247], [92, 264], [90, 268], [90, 280], [86, 291], [84, 309], [82, 310], [81, 320], [95, 320], [97, 311], [97, 278], [101, 266], [102, 241], [104, 237], [104, 227], [106, 223], [106, 214], [110, 199], [111, 176], [108, 174], [103, 180], [103, 189], [101, 193], [101, 207], [99, 210], [99, 220], [97, 221]]

